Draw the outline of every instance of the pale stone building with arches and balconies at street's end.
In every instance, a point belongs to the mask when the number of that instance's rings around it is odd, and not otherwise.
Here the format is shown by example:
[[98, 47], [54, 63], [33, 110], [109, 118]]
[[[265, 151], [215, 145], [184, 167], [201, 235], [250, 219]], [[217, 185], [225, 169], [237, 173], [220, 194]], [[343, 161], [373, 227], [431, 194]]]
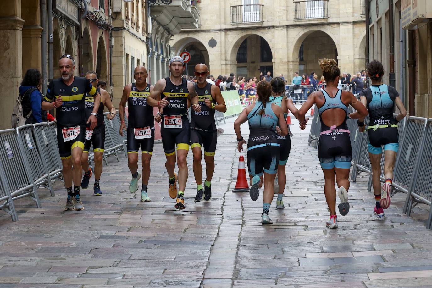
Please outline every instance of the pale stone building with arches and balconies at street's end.
[[334, 58], [351, 74], [365, 66], [365, 11], [359, 0], [201, 0], [196, 29], [182, 29], [173, 52], [188, 51], [188, 75], [203, 62], [214, 76], [258, 77], [267, 71], [321, 75], [318, 59]]

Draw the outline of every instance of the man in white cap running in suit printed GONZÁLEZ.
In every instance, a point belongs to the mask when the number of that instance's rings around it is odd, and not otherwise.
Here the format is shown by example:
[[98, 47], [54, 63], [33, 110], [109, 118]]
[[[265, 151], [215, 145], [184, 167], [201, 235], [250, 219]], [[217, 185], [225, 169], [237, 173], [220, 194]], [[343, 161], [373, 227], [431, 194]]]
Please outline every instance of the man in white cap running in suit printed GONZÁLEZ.
[[[200, 112], [197, 92], [193, 82], [183, 79], [184, 60], [174, 56], [169, 62], [171, 76], [156, 82], [150, 93], [149, 104], [163, 108], [162, 110], [162, 145], [165, 151], [165, 167], [169, 176], [168, 193], [172, 199], [177, 197], [175, 208], [184, 209], [184, 188], [187, 182], [187, 153], [191, 141], [191, 129], [187, 119], [187, 99], [192, 103], [194, 111]], [[157, 97], [162, 98], [156, 101]], [[177, 149], [178, 166], [178, 193], [177, 175], [174, 173]]]

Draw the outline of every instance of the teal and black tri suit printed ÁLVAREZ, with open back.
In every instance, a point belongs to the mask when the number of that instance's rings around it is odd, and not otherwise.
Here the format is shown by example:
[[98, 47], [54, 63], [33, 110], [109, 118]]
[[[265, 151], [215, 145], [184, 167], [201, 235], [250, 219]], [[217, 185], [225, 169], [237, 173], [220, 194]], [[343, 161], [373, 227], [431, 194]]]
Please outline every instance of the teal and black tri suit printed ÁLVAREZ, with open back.
[[330, 97], [323, 89], [325, 102], [318, 108], [321, 120], [320, 145], [318, 146], [318, 158], [321, 168], [351, 168], [351, 142], [349, 140], [349, 130], [346, 125], [346, 118], [339, 126], [328, 127], [324, 124], [322, 113], [328, 109], [342, 109], [347, 114], [348, 106], [341, 100], [342, 90], [339, 89], [334, 98]]

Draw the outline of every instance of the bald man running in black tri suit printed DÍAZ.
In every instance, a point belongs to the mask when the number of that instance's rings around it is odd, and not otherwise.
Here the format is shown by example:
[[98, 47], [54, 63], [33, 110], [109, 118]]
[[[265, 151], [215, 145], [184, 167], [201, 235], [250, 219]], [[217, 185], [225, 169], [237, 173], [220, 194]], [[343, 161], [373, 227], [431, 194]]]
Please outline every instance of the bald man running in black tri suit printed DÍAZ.
[[[149, 95], [153, 86], [146, 82], [147, 70], [144, 66], [137, 66], [133, 72], [135, 83], [124, 86], [123, 95], [118, 106], [118, 114], [121, 120], [120, 135], [126, 129], [124, 122], [124, 107], [127, 103], [129, 112], [127, 127], [127, 166], [132, 173], [129, 192], [138, 190], [138, 180], [141, 174], [138, 172], [138, 150], [142, 152], [143, 165], [143, 187], [141, 188], [141, 201], [149, 202], [147, 185], [150, 177], [150, 160], [153, 154], [155, 142], [155, 125], [153, 118], [153, 107], [149, 105]], [[157, 103], [157, 101], [155, 100]]]

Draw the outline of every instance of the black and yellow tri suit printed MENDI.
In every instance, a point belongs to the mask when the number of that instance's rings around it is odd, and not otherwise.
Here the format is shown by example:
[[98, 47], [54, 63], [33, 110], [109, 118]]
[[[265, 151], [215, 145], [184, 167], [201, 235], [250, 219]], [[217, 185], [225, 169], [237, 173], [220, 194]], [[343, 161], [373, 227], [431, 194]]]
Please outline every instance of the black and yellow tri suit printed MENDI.
[[216, 152], [217, 133], [215, 110], [207, 107], [206, 99], [217, 104], [212, 96], [212, 84], [207, 83], [204, 88], [195, 85], [201, 111], [192, 110], [191, 118], [191, 149], [204, 146], [204, 155], [214, 156]]

